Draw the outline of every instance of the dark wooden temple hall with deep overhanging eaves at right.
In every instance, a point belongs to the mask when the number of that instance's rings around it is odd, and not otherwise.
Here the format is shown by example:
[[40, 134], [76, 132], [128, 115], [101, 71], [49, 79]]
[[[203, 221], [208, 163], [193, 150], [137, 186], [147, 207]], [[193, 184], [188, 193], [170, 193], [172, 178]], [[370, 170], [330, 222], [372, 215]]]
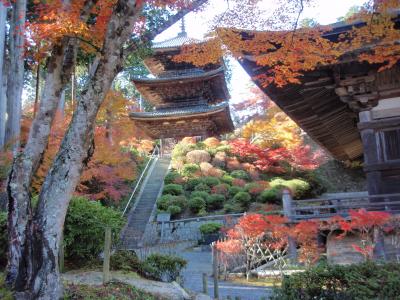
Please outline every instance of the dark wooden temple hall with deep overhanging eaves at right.
[[[351, 29], [338, 24], [334, 40]], [[251, 32], [242, 32], [249, 39]], [[338, 160], [363, 159], [370, 195], [400, 193], [400, 65], [380, 65], [357, 57], [304, 73], [301, 84], [265, 87], [256, 58], [243, 51], [239, 62], [262, 89], [308, 135]]]

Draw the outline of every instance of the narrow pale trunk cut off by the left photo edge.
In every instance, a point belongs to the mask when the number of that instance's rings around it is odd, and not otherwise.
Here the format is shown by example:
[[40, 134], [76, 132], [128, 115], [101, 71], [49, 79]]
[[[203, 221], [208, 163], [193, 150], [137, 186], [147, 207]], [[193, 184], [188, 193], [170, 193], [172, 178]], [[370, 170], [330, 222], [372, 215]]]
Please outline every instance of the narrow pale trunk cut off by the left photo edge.
[[7, 8], [2, 1], [0, 1], [0, 151], [4, 148], [5, 133], [6, 133], [6, 112], [7, 112], [7, 99], [5, 97], [5, 90], [3, 86], [3, 69], [4, 65], [4, 46], [6, 37], [6, 18]]

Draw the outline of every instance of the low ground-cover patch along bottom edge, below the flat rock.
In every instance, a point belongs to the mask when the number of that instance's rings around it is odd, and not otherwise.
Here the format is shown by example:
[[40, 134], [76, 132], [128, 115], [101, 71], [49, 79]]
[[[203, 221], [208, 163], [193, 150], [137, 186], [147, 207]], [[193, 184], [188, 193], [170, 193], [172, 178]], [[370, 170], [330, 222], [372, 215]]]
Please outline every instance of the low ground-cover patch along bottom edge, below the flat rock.
[[64, 300], [155, 300], [152, 295], [124, 283], [104, 286], [67, 285]]

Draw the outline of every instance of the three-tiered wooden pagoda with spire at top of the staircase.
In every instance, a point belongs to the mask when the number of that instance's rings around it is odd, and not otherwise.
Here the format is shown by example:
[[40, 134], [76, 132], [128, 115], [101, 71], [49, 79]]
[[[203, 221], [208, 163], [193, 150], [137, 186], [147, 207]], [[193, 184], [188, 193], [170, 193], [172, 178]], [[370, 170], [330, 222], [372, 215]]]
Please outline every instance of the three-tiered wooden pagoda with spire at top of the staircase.
[[172, 60], [189, 42], [183, 25], [175, 38], [154, 43], [154, 54], [144, 61], [153, 78], [134, 79], [154, 110], [132, 112], [130, 118], [151, 138], [219, 136], [234, 129], [222, 60], [204, 68]]

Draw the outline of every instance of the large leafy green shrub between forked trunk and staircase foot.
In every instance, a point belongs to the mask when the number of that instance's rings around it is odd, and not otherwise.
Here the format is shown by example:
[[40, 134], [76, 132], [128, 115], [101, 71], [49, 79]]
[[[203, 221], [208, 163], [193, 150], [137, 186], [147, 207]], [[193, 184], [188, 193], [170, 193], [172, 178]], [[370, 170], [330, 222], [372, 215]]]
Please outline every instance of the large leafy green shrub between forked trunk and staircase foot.
[[104, 227], [111, 228], [113, 242], [117, 242], [124, 223], [119, 211], [83, 197], [72, 198], [64, 225], [66, 259], [96, 259], [104, 247]]

